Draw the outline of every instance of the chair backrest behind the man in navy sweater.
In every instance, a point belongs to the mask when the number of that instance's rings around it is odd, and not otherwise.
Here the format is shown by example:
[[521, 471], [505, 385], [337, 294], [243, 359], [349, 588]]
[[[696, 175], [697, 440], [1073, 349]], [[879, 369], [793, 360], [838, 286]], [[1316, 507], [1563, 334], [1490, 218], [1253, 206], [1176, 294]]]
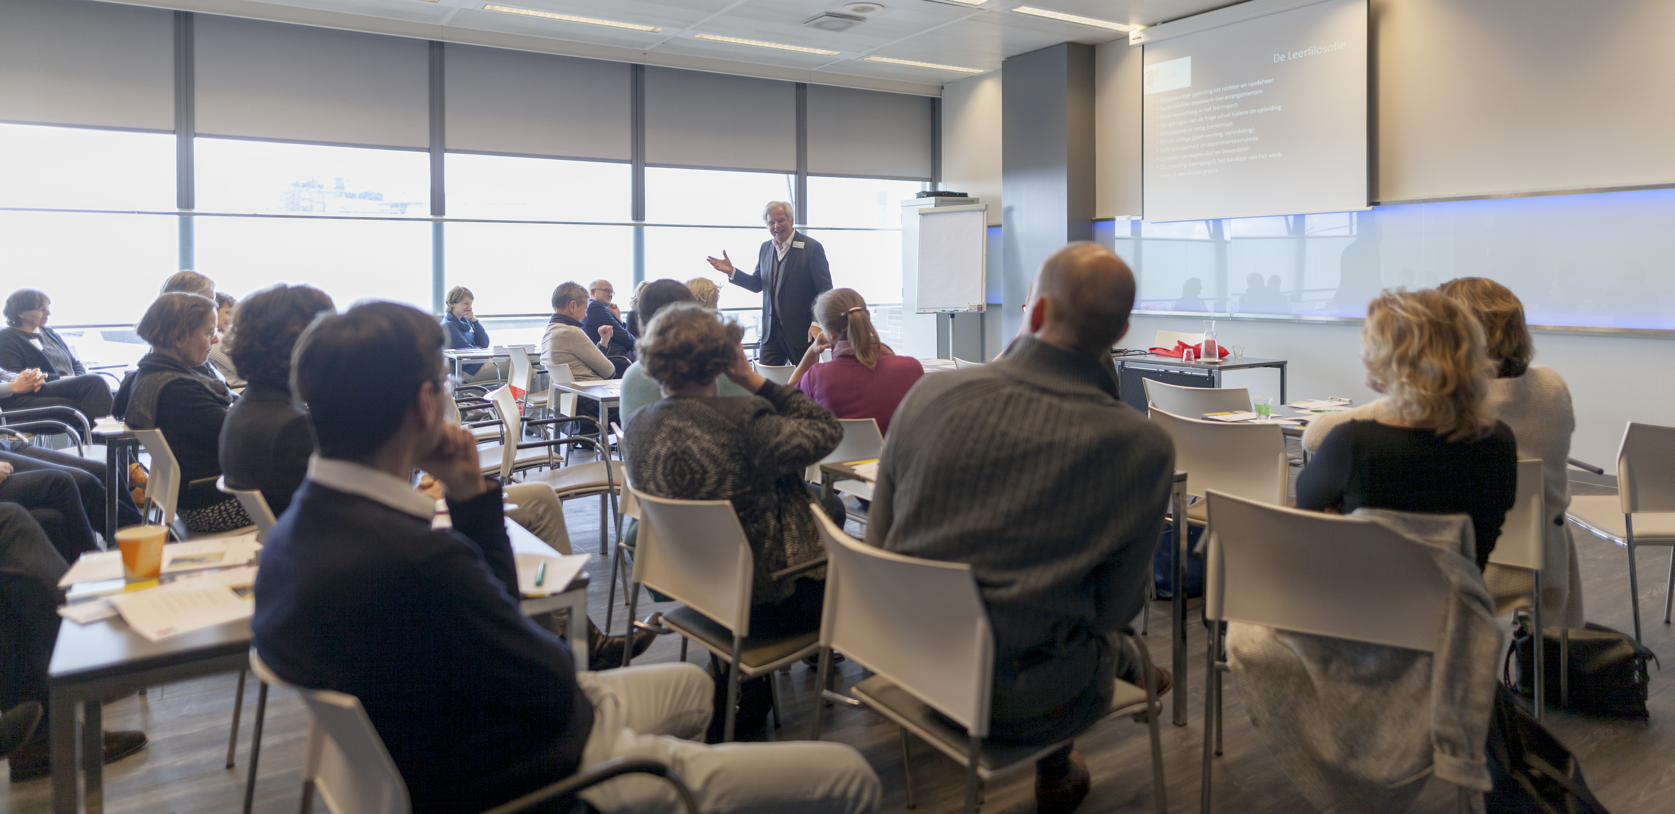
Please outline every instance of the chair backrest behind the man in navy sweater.
[[[384, 747], [384, 739], [362, 708], [360, 698], [332, 690], [295, 687], [268, 668], [250, 648], [250, 670], [268, 687], [286, 687], [302, 695], [313, 715], [310, 749], [318, 749], [303, 767], [332, 814], [410, 814], [407, 781]], [[320, 737], [325, 735], [325, 737]], [[317, 740], [318, 739], [318, 740]], [[313, 777], [307, 777], [313, 774]]]

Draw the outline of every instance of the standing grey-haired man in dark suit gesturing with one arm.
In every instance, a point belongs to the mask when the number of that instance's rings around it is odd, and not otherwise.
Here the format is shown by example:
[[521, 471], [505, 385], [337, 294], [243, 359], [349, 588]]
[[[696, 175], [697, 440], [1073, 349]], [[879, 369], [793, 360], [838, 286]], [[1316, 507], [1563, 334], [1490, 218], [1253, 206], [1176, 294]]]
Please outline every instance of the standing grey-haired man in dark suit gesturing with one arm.
[[774, 240], [764, 241], [757, 251], [755, 271], [739, 271], [725, 251], [719, 260], [707, 260], [734, 285], [762, 293], [759, 362], [796, 365], [821, 330], [814, 323], [814, 298], [831, 290], [832, 271], [826, 265], [826, 246], [807, 234], [797, 234], [792, 226], [796, 209], [789, 203], [769, 201], [762, 208], [762, 221]]

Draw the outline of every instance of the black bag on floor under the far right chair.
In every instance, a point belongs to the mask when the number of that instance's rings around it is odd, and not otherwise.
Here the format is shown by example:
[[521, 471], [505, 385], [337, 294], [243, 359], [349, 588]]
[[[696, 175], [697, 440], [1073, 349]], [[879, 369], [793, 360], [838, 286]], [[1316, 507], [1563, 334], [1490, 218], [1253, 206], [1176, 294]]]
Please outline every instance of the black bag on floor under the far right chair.
[[[1541, 641], [1541, 660], [1546, 668], [1546, 702], [1558, 707], [1559, 698], [1559, 628], [1548, 628]], [[1513, 657], [1518, 657], [1518, 682], [1508, 675]], [[1647, 714], [1647, 662], [1657, 655], [1633, 636], [1605, 625], [1588, 623], [1569, 631], [1569, 708], [1591, 715], [1611, 715], [1645, 720]], [[1501, 668], [1502, 680], [1523, 697], [1534, 697], [1536, 647], [1526, 618], [1519, 618], [1513, 631], [1513, 645]], [[1663, 665], [1658, 665], [1662, 668]]]

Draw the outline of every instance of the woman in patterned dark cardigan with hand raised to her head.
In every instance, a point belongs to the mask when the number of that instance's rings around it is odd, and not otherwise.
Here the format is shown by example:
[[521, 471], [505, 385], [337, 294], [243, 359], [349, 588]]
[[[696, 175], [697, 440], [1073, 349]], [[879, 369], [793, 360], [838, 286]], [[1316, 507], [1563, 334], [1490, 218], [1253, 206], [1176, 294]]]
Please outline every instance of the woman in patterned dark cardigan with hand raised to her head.
[[[628, 420], [628, 479], [658, 497], [732, 501], [755, 561], [750, 633], [816, 630], [824, 569], [789, 580], [774, 573], [826, 553], [802, 471], [838, 447], [843, 427], [802, 390], [752, 370], [737, 322], [680, 301], [660, 308], [645, 328], [640, 363], [663, 399]], [[754, 395], [715, 395], [720, 375]], [[740, 732], [765, 725], [765, 690], [742, 688]]]

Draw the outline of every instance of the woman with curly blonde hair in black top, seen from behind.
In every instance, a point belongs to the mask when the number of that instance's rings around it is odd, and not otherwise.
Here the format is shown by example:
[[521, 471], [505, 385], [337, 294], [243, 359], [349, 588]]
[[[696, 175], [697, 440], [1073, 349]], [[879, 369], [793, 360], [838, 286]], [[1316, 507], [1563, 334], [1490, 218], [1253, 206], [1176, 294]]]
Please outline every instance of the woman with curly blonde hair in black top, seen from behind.
[[1440, 291], [1385, 291], [1367, 307], [1362, 360], [1394, 417], [1332, 430], [1296, 479], [1296, 507], [1471, 514], [1482, 568], [1518, 492], [1518, 442], [1486, 407], [1482, 327]]

